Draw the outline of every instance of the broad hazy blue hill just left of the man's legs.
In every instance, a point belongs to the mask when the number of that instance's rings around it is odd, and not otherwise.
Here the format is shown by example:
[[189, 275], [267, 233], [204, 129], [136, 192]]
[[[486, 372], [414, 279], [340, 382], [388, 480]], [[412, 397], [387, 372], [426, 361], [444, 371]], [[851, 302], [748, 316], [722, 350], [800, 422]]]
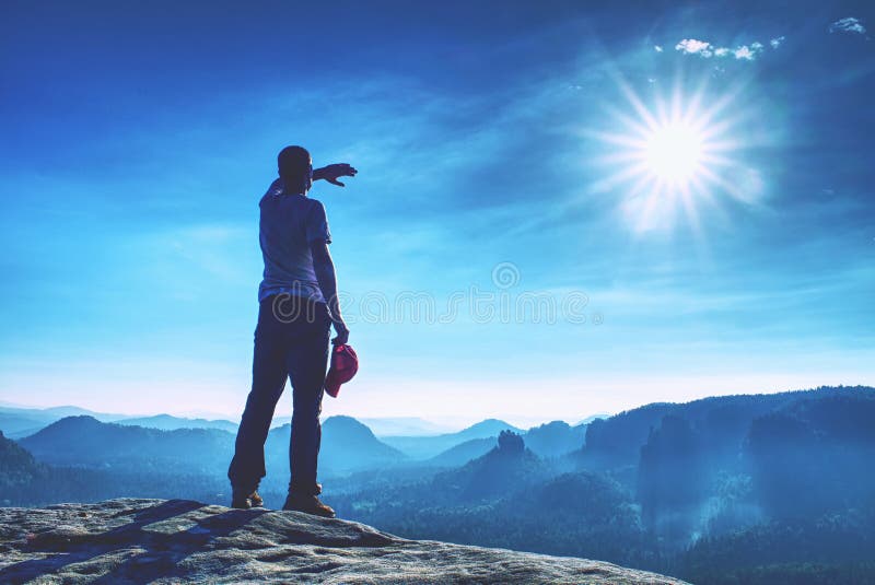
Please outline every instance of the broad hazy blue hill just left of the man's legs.
[[86, 416], [61, 419], [19, 443], [51, 465], [206, 475], [226, 468], [234, 446], [233, 435], [217, 429], [160, 431]]

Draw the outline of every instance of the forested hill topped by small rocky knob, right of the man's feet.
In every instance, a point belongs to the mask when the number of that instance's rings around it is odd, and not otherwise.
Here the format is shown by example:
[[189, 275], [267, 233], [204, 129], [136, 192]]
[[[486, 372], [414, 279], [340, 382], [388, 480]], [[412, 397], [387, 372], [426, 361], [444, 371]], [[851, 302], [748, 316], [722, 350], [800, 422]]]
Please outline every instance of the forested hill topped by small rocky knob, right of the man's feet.
[[[343, 517], [405, 537], [641, 562], [648, 537], [629, 494], [609, 478], [556, 476], [548, 461], [506, 433], [498, 446], [428, 482], [384, 484], [335, 496]], [[586, 578], [583, 578], [586, 582]]]

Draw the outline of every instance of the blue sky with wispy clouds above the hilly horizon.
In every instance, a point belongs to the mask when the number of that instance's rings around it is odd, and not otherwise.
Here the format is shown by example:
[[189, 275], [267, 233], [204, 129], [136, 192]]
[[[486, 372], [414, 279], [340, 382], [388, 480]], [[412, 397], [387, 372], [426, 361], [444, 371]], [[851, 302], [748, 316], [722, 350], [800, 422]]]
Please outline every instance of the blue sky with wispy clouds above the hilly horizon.
[[[0, 400], [236, 419], [291, 143], [359, 168], [311, 194], [362, 360], [325, 414], [875, 384], [867, 2], [30, 4], [0, 23]], [[673, 100], [724, 160], [682, 198], [614, 180]]]

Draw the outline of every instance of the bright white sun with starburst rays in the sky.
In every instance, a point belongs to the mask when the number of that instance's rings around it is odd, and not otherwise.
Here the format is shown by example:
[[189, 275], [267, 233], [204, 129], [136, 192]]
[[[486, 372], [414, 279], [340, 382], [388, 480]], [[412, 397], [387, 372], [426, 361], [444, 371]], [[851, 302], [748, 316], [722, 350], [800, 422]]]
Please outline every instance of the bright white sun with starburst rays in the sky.
[[719, 207], [722, 195], [750, 202], [756, 171], [744, 166], [746, 147], [737, 131], [733, 93], [685, 94], [676, 85], [669, 98], [655, 90], [649, 103], [620, 85], [629, 107], [610, 104], [599, 125], [587, 129], [602, 144], [595, 164], [599, 178], [590, 192], [619, 196], [619, 208], [635, 232], [669, 230], [679, 219], [700, 227], [701, 211]]

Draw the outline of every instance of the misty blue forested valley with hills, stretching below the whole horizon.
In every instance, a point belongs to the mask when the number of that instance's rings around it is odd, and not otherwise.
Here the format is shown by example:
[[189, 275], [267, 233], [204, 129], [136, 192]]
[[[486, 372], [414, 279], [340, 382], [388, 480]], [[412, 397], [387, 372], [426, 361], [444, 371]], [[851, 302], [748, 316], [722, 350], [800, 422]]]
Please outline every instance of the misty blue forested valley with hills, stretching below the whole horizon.
[[[67, 413], [0, 410], [0, 505], [228, 504], [233, 423]], [[290, 433], [268, 436], [268, 507], [285, 495]], [[331, 417], [319, 479], [339, 517], [408, 538], [602, 559], [692, 583], [862, 584], [875, 582], [873, 458], [875, 388], [821, 387], [422, 436], [376, 436]]]

